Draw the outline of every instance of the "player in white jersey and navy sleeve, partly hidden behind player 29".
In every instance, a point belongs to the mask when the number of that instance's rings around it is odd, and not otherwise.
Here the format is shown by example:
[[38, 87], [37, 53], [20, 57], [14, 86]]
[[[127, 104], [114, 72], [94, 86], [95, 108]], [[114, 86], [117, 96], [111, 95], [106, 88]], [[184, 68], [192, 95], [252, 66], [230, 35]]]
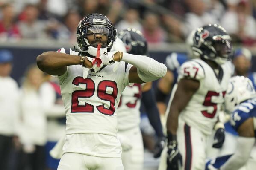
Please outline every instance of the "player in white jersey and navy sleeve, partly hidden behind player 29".
[[[118, 37], [123, 41], [129, 54], [148, 55], [147, 41], [139, 30], [127, 28], [121, 30]], [[159, 138], [155, 157], [160, 156], [165, 144], [152, 82], [126, 86], [118, 106], [118, 138], [122, 145], [122, 161], [125, 170], [143, 169], [144, 148], [139, 127], [141, 101]], [[122, 143], [127, 143], [126, 147]]]

